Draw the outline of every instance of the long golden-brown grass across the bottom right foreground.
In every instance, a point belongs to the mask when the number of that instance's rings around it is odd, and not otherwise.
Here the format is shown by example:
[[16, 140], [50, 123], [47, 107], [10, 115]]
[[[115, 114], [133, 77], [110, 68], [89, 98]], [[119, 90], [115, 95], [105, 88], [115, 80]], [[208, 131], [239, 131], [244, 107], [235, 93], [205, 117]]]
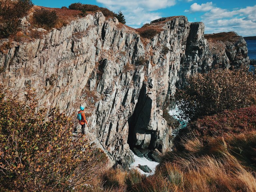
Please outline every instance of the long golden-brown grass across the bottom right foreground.
[[[104, 174], [102, 191], [127, 192], [255, 192], [256, 132], [183, 140], [184, 150], [169, 151], [155, 174], [119, 169]], [[97, 190], [96, 190], [97, 191]]]

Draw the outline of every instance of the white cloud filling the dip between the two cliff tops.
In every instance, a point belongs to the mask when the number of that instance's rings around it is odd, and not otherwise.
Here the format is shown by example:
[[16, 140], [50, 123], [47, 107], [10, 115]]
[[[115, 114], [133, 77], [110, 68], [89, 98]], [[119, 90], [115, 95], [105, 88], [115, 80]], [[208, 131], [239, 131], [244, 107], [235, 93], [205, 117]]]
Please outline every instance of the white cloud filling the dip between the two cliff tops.
[[97, 2], [115, 12], [121, 9], [126, 18], [126, 24], [134, 28], [160, 18], [161, 14], [155, 11], [176, 4], [175, 0], [97, 0]]

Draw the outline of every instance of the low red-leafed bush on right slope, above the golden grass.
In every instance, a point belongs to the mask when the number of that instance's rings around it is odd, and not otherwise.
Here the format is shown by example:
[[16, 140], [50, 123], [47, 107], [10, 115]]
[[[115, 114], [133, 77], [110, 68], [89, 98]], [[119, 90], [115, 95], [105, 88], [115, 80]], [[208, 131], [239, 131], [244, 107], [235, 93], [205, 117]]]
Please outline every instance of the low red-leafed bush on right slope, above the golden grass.
[[181, 137], [195, 136], [206, 140], [208, 137], [239, 134], [256, 130], [256, 105], [237, 110], [226, 110], [212, 116], [205, 116], [187, 125], [180, 132]]

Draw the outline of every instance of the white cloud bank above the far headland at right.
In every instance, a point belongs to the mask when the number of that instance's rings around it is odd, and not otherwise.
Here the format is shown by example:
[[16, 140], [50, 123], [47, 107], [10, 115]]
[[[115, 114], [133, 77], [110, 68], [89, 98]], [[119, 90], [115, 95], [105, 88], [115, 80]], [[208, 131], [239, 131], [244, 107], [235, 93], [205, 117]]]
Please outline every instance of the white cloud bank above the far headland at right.
[[233, 10], [216, 7], [212, 2], [201, 5], [194, 3], [185, 12], [205, 12], [202, 22], [205, 24], [205, 33], [219, 33], [235, 31], [242, 36], [255, 35], [256, 5]]

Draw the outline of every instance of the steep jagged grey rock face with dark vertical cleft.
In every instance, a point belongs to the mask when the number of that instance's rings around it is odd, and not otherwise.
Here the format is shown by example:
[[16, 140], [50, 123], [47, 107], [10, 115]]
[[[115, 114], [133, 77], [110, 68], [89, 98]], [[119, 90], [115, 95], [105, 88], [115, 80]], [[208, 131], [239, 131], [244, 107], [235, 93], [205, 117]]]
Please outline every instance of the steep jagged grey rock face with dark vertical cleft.
[[[178, 16], [152, 25], [162, 31], [149, 41], [116, 18], [87, 15], [1, 53], [1, 84], [20, 98], [34, 88], [40, 107], [57, 106], [68, 115], [85, 105], [87, 131], [127, 167], [130, 147], [164, 151], [171, 146], [172, 124], [163, 114], [175, 86], [186, 75], [211, 70], [216, 54], [222, 55], [211, 52], [203, 23]], [[237, 65], [247, 65], [243, 49]], [[234, 61], [233, 55], [224, 58]]]

